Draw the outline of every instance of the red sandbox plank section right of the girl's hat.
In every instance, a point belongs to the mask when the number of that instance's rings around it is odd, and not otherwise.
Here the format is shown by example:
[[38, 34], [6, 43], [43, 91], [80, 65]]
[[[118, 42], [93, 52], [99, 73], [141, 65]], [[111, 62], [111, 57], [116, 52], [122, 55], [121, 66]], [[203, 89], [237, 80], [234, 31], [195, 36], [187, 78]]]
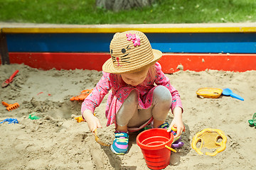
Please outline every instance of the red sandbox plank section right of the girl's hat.
[[200, 72], [206, 69], [245, 72], [256, 70], [256, 54], [165, 54], [161, 60], [166, 73], [183, 70]]

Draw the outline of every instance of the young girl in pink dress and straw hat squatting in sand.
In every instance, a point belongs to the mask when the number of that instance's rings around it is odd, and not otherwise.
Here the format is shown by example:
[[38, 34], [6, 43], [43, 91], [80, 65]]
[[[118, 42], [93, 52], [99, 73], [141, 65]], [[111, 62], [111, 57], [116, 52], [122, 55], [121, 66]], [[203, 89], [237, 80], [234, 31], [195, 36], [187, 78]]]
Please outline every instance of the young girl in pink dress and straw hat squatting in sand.
[[[111, 90], [105, 114], [107, 126], [116, 125], [112, 152], [127, 153], [128, 132], [146, 125], [168, 128], [168, 132], [171, 126], [176, 126], [175, 137], [180, 136], [184, 128], [181, 98], [157, 62], [162, 53], [151, 48], [144, 33], [130, 30], [114, 35], [110, 42], [110, 55], [111, 58], [102, 66], [102, 78], [82, 103], [82, 118], [90, 130], [94, 132], [96, 128], [102, 128], [93, 113]], [[170, 109], [174, 119], [169, 127], [164, 122]]]

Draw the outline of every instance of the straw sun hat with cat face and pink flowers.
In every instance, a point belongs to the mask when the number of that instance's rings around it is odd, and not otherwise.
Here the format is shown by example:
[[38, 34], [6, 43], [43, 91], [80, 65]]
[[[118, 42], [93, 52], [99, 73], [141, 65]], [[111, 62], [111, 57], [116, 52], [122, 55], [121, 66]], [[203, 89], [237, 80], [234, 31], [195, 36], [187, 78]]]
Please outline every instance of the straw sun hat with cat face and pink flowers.
[[111, 58], [107, 60], [102, 70], [104, 72], [122, 74], [137, 72], [157, 62], [162, 53], [151, 48], [149, 40], [144, 33], [129, 30], [116, 33], [110, 42]]

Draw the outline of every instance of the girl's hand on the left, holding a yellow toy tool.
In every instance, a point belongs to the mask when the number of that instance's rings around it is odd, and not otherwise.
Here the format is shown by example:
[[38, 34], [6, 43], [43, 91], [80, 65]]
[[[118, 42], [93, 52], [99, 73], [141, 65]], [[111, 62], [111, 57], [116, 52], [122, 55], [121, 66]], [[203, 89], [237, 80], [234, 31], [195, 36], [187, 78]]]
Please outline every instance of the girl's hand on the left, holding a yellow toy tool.
[[87, 122], [88, 128], [91, 132], [95, 132], [97, 128], [102, 128], [100, 125], [100, 120], [95, 117], [90, 110], [85, 110], [83, 113], [83, 118], [85, 118], [85, 121]]

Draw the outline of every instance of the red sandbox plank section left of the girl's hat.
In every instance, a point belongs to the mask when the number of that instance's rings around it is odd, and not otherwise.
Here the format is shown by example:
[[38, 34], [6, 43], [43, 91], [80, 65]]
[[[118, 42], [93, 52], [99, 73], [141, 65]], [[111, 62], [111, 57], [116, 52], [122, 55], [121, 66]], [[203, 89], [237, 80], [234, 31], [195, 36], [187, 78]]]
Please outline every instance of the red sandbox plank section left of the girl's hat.
[[102, 70], [110, 58], [107, 53], [66, 52], [9, 52], [10, 62], [38, 69], [95, 69]]

